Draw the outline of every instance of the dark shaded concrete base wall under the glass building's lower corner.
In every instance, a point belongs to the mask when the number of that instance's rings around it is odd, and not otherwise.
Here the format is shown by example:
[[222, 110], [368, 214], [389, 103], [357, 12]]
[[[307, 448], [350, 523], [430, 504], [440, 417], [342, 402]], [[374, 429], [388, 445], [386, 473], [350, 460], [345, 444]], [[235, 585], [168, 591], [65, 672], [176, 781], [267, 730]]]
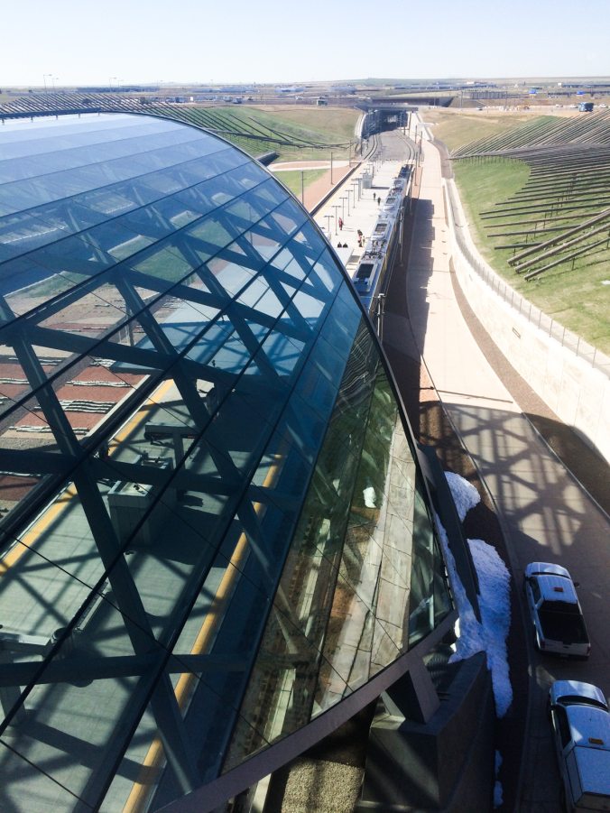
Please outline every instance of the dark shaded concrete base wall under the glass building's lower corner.
[[400, 688], [380, 699], [356, 813], [490, 810], [495, 711], [485, 655], [459, 663], [428, 723], [407, 719], [401, 706]]

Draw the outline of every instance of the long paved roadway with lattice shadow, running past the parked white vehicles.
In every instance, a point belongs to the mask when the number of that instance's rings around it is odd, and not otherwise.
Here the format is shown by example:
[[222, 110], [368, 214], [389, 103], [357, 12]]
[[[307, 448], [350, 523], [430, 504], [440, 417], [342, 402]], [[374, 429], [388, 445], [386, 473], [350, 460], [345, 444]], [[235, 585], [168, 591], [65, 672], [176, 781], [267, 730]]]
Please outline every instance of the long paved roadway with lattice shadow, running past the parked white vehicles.
[[550, 683], [562, 678], [589, 680], [610, 693], [610, 522], [532, 428], [515, 400], [510, 375], [505, 381], [498, 377], [468, 328], [453, 290], [439, 152], [425, 141], [423, 151], [407, 281], [411, 328], [444, 410], [495, 506], [516, 587], [521, 588], [524, 566], [537, 559], [559, 562], [581, 584], [590, 661], [553, 660], [531, 651], [529, 750], [518, 809], [557, 810], [559, 776], [545, 695]]

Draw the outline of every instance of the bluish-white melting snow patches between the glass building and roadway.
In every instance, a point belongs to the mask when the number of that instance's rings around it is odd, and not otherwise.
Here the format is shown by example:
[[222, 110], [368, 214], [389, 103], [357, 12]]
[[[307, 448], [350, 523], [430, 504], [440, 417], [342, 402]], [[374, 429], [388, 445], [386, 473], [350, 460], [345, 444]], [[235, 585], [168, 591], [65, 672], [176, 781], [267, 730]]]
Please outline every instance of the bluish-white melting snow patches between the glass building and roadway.
[[[446, 472], [451, 494], [461, 520], [480, 500], [473, 485], [463, 477]], [[474, 494], [473, 494], [474, 492]], [[447, 561], [449, 578], [458, 607], [456, 651], [451, 661], [462, 661], [476, 652], [485, 651], [487, 666], [492, 673], [495, 713], [503, 717], [513, 702], [513, 687], [508, 675], [506, 636], [511, 623], [509, 600], [510, 574], [492, 545], [483, 540], [468, 540], [479, 582], [481, 622], [476, 620], [466, 590], [458, 577], [456, 562], [448, 547], [447, 532], [440, 527], [440, 540]]]

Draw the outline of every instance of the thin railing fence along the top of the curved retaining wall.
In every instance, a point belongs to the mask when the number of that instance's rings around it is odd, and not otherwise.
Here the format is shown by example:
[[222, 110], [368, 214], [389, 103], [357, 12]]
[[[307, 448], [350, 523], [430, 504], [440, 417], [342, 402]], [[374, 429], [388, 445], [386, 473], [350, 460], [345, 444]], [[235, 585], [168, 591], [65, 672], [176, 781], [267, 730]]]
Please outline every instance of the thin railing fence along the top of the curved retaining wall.
[[533, 305], [529, 300], [522, 297], [515, 291], [508, 282], [504, 282], [499, 274], [485, 263], [480, 254], [473, 251], [468, 245], [464, 236], [464, 224], [461, 222], [460, 206], [455, 199], [455, 190], [451, 183], [447, 184], [448, 190], [448, 215], [452, 217], [456, 226], [456, 240], [459, 250], [467, 259], [472, 270], [476, 272], [486, 284], [513, 309], [527, 319], [531, 324], [536, 325], [543, 333], [554, 338], [562, 347], [571, 350], [578, 358], [585, 359], [591, 366], [596, 367], [603, 374], [610, 377], [610, 357], [602, 353], [597, 347], [590, 345], [584, 338], [572, 333], [571, 330], [560, 325], [548, 314]]

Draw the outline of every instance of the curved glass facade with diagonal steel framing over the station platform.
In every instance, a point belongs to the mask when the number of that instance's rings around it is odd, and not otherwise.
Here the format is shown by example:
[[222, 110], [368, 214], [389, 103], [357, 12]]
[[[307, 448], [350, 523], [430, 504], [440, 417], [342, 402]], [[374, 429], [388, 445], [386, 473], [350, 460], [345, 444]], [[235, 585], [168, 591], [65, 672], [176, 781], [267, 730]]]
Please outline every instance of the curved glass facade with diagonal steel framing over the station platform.
[[0, 456], [1, 809], [160, 808], [448, 613], [350, 282], [198, 129], [0, 129]]

